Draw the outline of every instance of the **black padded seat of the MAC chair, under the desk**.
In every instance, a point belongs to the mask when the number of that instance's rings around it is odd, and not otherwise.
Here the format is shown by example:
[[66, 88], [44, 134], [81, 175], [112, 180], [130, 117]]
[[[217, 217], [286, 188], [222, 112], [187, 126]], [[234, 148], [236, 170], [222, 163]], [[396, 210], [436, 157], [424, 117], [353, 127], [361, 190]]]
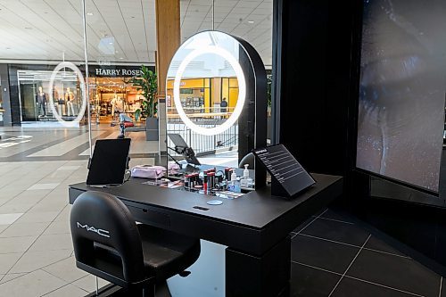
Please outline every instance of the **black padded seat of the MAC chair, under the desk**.
[[157, 227], [138, 225], [147, 276], [162, 281], [194, 264], [200, 240]]

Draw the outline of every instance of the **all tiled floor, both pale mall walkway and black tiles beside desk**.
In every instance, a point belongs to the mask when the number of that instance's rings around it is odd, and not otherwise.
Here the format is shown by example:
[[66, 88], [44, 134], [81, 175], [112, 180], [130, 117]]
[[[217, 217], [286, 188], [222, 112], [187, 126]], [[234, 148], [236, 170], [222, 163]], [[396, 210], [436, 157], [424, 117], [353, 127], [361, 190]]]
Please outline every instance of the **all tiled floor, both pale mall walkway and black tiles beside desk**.
[[[85, 133], [0, 129], [0, 296], [95, 290], [95, 278], [75, 267], [68, 225], [68, 185], [87, 177]], [[81, 143], [70, 141], [75, 137]], [[156, 144], [146, 144], [143, 134], [133, 144], [132, 164], [153, 162], [144, 153], [155, 152]], [[446, 297], [441, 276], [336, 211], [323, 211], [292, 235], [292, 296]]]

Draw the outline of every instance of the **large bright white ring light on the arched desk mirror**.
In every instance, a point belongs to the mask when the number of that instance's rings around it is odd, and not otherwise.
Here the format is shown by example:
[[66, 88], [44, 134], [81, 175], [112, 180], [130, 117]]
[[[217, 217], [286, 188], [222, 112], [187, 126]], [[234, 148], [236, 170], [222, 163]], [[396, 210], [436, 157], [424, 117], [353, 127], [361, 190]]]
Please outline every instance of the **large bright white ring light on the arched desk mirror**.
[[[235, 105], [234, 112], [231, 114], [229, 119], [227, 119], [223, 124], [215, 128], [204, 128], [194, 124], [192, 120], [189, 120], [189, 118], [187, 118], [185, 110], [183, 109], [183, 106], [181, 105], [181, 100], [179, 98], [179, 86], [187, 65], [190, 62], [192, 62], [194, 58], [202, 54], [218, 54], [219, 56], [225, 58], [227, 62], [229, 62], [229, 64], [234, 69], [235, 75], [238, 79], [238, 99]], [[244, 70], [242, 70], [242, 67], [240, 66], [239, 62], [235, 59], [235, 57], [224, 48], [215, 45], [209, 45], [199, 49], [195, 49], [191, 53], [187, 54], [185, 59], [179, 64], [177, 75], [175, 76], [175, 80], [173, 83], [173, 99], [179, 117], [181, 118], [181, 120], [183, 120], [185, 125], [194, 132], [205, 136], [213, 136], [226, 131], [228, 128], [231, 128], [231, 126], [235, 124], [235, 121], [238, 120], [238, 117], [240, 117], [240, 114], [244, 109], [245, 97], [246, 97], [246, 82], [244, 80]]]

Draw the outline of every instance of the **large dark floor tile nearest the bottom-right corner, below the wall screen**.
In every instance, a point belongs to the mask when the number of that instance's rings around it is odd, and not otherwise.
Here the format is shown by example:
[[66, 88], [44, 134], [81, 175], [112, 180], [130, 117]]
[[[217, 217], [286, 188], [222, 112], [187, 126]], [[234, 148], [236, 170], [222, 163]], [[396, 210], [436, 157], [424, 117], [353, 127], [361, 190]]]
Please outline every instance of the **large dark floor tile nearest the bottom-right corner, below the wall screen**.
[[415, 260], [368, 250], [359, 253], [347, 276], [424, 296], [438, 296], [440, 288], [440, 276]]

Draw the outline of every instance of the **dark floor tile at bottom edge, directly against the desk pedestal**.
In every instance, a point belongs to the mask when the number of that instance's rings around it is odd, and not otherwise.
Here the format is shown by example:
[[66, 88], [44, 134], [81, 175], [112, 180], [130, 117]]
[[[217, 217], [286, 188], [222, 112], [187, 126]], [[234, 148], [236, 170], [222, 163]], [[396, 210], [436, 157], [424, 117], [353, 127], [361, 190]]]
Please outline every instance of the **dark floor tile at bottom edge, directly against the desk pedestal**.
[[300, 264], [291, 266], [290, 296], [328, 296], [341, 276]]

